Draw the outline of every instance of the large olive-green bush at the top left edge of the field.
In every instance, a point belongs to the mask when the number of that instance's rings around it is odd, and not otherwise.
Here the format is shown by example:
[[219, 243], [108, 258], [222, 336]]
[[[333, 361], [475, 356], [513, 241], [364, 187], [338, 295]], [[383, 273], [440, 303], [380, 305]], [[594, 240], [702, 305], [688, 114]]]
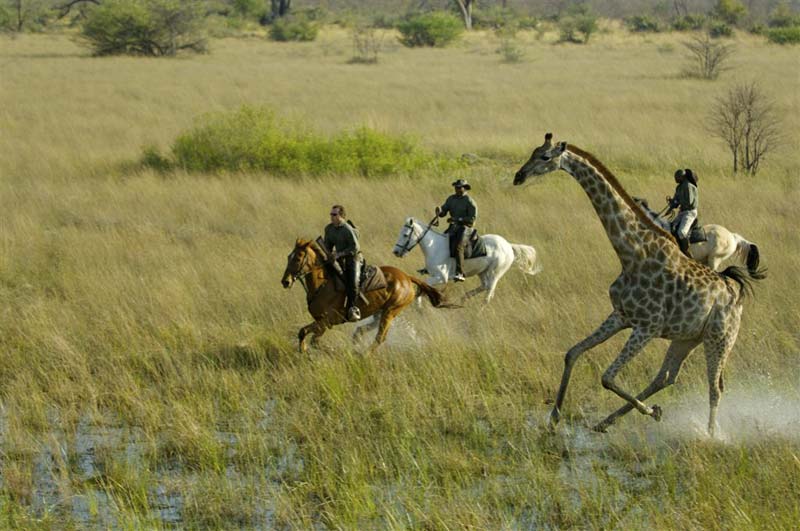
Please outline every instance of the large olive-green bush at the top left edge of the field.
[[179, 0], [107, 0], [90, 10], [80, 38], [95, 55], [171, 56], [205, 52], [203, 4]]

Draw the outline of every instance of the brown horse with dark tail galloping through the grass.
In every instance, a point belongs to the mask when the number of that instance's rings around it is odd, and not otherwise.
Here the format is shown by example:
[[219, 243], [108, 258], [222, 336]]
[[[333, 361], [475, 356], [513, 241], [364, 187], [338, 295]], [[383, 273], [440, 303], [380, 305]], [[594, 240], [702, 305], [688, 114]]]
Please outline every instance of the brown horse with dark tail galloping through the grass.
[[[362, 317], [376, 314], [380, 316], [378, 335], [375, 336], [375, 343], [369, 349], [370, 353], [386, 339], [392, 320], [406, 306], [414, 302], [420, 293], [427, 295], [434, 307], [444, 306], [442, 294], [422, 280], [406, 275], [395, 267], [381, 266], [381, 271], [386, 278], [386, 287], [368, 291], [364, 293], [367, 301], [361, 299], [358, 301]], [[336, 290], [330, 275], [316, 244], [298, 238], [294, 250], [289, 254], [289, 263], [283, 272], [281, 284], [284, 288], [291, 288], [294, 281], [300, 279], [306, 289], [308, 312], [314, 318], [314, 322], [300, 329], [298, 339], [301, 352], [307, 351], [308, 334], [314, 334], [311, 342], [316, 344], [328, 328], [347, 322], [344, 315], [344, 292]], [[359, 327], [354, 338], [360, 337], [367, 326]]]

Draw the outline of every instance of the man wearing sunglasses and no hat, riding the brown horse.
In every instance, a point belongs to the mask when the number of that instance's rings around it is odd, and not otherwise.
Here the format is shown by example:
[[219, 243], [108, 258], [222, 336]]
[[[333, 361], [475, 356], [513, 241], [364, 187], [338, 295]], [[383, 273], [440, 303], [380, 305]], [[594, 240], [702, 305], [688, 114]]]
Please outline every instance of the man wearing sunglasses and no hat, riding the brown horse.
[[358, 300], [358, 279], [364, 258], [358, 244], [358, 229], [347, 219], [342, 205], [331, 207], [331, 222], [325, 227], [325, 247], [342, 268], [345, 284], [345, 307], [348, 321], [361, 319], [361, 311], [356, 306]]

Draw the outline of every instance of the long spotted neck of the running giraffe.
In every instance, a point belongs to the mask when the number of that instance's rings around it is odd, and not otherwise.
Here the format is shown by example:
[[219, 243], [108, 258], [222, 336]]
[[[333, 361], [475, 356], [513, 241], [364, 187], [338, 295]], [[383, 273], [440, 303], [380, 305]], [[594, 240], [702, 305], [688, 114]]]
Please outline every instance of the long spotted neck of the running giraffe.
[[[572, 151], [571, 151], [572, 150]], [[575, 151], [579, 151], [576, 153]], [[622, 269], [632, 268], [647, 254], [647, 243], [656, 238], [668, 237], [664, 231], [654, 231], [623, 194], [627, 193], [616, 182], [613, 175], [599, 163], [587, 160], [588, 155], [577, 148], [569, 147], [561, 155], [561, 168], [572, 175], [589, 196], [595, 212], [603, 223], [614, 251], [622, 263]], [[604, 173], [606, 172], [606, 173]], [[659, 234], [662, 232], [663, 234]]]

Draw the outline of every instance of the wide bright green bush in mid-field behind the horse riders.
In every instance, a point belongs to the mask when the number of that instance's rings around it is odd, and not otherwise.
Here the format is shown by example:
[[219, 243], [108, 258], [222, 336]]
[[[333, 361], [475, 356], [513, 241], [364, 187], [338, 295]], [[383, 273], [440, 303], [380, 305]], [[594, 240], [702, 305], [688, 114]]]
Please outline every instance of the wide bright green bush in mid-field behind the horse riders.
[[[408, 138], [391, 137], [366, 127], [323, 138], [263, 107], [242, 107], [232, 114], [207, 116], [176, 139], [172, 153], [176, 166], [205, 172], [372, 177], [455, 165], [425, 153]], [[146, 158], [163, 164], [153, 154]]]

